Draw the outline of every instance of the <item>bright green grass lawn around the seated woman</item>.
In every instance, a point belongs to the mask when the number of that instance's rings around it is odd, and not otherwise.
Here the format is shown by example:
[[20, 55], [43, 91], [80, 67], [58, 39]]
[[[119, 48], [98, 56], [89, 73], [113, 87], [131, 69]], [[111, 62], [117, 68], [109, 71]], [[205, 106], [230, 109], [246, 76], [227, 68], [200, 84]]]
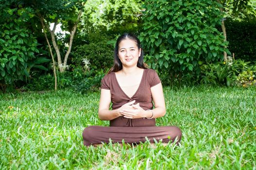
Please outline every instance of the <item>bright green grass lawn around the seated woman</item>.
[[0, 169], [256, 169], [256, 87], [164, 88], [158, 126], [181, 128], [181, 145], [85, 147], [99, 93], [0, 95]]

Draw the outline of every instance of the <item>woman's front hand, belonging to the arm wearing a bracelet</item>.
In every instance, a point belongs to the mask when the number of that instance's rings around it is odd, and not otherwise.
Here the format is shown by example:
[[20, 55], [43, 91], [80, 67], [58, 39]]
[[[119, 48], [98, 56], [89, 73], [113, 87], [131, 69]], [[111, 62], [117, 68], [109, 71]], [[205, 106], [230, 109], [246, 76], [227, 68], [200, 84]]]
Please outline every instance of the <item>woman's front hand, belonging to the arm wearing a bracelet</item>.
[[138, 119], [138, 118], [146, 118], [148, 117], [147, 111], [139, 106], [139, 103], [132, 104], [132, 108], [122, 109], [120, 113], [124, 118], [128, 119]]

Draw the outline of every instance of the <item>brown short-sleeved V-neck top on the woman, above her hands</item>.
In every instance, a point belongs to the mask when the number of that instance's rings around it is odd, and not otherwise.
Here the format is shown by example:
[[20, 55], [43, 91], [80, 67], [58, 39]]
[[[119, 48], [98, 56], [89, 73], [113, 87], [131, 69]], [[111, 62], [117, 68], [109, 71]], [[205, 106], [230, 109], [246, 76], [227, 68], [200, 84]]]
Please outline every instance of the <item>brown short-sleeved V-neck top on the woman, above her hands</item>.
[[106, 74], [102, 79], [103, 89], [111, 92], [112, 109], [118, 109], [123, 104], [135, 100], [135, 104], [139, 102], [140, 107], [144, 110], [152, 109], [152, 94], [150, 88], [161, 83], [157, 73], [153, 69], [144, 69], [141, 82], [137, 91], [132, 97], [128, 97], [118, 84], [116, 73]]

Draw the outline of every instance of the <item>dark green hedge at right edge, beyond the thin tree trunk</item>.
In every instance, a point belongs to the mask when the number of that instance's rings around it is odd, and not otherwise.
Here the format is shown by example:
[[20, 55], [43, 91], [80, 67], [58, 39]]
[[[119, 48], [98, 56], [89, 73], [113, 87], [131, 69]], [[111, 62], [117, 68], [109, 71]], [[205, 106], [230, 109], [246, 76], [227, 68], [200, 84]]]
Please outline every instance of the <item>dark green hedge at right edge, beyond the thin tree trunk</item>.
[[256, 62], [256, 19], [225, 21], [229, 51], [235, 58]]

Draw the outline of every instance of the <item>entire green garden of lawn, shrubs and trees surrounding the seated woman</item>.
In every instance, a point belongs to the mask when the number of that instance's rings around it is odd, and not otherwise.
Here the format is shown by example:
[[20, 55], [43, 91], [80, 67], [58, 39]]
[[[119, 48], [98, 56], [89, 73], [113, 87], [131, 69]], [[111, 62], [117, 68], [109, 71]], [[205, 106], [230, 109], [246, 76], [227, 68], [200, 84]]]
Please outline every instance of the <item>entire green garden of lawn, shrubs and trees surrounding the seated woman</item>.
[[[0, 169], [256, 168], [256, 0], [0, 0], [0, 15]], [[125, 32], [180, 147], [82, 144], [108, 125], [99, 87]]]

